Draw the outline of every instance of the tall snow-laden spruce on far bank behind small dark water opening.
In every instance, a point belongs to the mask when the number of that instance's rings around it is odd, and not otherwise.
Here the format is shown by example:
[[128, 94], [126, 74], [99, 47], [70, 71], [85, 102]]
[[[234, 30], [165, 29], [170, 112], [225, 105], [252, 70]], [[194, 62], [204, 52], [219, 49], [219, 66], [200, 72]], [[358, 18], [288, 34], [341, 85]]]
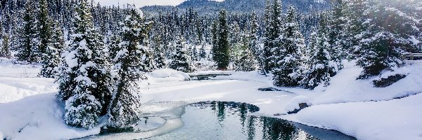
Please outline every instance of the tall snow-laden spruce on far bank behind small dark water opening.
[[281, 47], [273, 49], [273, 61], [276, 64], [272, 71], [274, 85], [294, 87], [299, 85], [301, 78], [301, 55], [300, 50], [305, 48], [305, 40], [300, 33], [298, 20], [296, 20], [295, 8], [289, 6], [284, 24]]

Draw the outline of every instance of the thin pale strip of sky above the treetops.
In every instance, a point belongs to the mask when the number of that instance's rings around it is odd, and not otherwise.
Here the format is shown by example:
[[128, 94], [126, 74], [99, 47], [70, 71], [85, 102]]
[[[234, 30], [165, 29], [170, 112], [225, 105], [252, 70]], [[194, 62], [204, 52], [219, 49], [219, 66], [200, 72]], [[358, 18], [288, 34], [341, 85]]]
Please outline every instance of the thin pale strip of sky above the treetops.
[[[177, 6], [183, 1], [186, 0], [94, 0], [99, 2], [102, 6], [112, 6], [117, 5], [120, 3], [120, 6], [126, 3], [135, 3], [138, 7], [143, 6], [153, 6], [153, 5], [160, 5], [160, 6]], [[224, 1], [224, 0], [215, 0], [215, 1]]]

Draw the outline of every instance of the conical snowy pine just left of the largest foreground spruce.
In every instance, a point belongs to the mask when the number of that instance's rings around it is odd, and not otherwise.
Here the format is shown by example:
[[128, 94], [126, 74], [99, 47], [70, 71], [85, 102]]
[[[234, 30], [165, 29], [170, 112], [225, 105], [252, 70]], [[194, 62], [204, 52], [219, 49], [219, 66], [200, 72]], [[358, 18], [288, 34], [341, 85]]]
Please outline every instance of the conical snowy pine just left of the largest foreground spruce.
[[39, 73], [40, 76], [46, 78], [56, 78], [58, 76], [58, 66], [60, 64], [61, 54], [65, 45], [63, 38], [63, 31], [56, 22], [54, 27], [53, 34], [50, 36], [49, 44], [46, 45], [46, 50], [43, 55], [43, 60], [41, 62], [42, 68]]

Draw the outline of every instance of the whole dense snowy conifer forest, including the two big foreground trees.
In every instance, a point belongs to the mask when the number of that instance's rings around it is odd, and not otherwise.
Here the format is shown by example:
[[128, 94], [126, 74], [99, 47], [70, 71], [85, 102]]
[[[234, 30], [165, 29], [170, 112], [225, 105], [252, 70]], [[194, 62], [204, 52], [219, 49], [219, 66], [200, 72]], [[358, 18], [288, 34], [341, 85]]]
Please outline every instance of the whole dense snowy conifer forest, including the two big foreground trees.
[[60, 85], [66, 123], [90, 129], [101, 116], [117, 128], [139, 120], [136, 82], [154, 69], [189, 73], [208, 64], [312, 90], [328, 85], [345, 59], [366, 79], [403, 66], [404, 52], [422, 51], [420, 1], [333, 0], [309, 10], [274, 0], [247, 11], [229, 0], [196, 2], [224, 6], [203, 11], [188, 1], [143, 13], [87, 0], [3, 0], [0, 57], [41, 64], [39, 76]]

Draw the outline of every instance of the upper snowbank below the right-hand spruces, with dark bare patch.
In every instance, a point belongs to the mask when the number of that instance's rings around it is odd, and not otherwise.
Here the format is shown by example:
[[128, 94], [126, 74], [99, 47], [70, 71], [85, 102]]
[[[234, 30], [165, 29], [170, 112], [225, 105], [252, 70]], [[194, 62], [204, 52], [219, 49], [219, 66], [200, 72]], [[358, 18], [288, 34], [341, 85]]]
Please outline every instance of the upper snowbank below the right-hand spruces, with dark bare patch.
[[[394, 73], [407, 74], [406, 78], [399, 80], [389, 87], [373, 87], [372, 80], [378, 79], [376, 76], [367, 80], [356, 80], [362, 69], [354, 66], [354, 62], [346, 63], [345, 69], [331, 79], [331, 85], [326, 87], [321, 96], [313, 100], [314, 104], [335, 104], [345, 102], [368, 102], [383, 101], [397, 97], [406, 97], [411, 94], [422, 92], [422, 62], [408, 62], [396, 70]], [[386, 72], [381, 76], [392, 74]]]

